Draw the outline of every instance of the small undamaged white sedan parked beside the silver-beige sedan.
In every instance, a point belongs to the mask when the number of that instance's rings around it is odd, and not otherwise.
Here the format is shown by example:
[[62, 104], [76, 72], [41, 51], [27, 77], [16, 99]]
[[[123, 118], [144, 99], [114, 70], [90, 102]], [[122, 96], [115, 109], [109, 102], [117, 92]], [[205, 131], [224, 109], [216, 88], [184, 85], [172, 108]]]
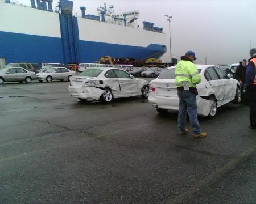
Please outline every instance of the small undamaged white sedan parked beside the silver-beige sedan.
[[52, 82], [52, 80], [69, 81], [71, 76], [75, 75], [75, 71], [71, 71], [65, 67], [52, 67], [43, 73], [36, 74], [39, 82], [43, 82], [43, 80], [46, 80], [47, 82]]

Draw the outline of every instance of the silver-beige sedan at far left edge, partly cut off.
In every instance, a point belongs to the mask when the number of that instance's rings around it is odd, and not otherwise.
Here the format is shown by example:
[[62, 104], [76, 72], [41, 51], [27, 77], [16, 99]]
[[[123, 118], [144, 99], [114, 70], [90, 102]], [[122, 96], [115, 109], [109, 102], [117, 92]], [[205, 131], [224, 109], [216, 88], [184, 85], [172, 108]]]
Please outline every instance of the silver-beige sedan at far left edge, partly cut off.
[[5, 82], [31, 83], [36, 79], [36, 75], [32, 71], [28, 71], [22, 67], [5, 67], [0, 70], [0, 84]]

